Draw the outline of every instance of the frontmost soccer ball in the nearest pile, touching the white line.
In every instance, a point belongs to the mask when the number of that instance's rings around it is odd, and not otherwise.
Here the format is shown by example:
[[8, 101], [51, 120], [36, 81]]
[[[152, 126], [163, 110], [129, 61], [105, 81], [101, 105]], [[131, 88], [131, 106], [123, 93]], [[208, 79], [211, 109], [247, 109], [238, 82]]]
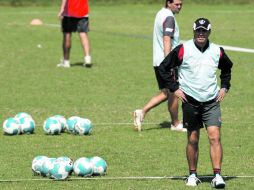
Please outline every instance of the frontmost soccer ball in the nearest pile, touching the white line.
[[64, 180], [69, 176], [69, 171], [67, 170], [68, 163], [65, 161], [55, 160], [49, 168], [50, 178], [56, 180]]

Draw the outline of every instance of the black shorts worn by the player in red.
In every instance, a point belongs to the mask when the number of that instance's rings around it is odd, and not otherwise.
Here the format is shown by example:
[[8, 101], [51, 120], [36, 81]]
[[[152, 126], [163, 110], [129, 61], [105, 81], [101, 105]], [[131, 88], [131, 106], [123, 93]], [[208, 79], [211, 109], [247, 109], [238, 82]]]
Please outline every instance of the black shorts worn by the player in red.
[[62, 20], [62, 32], [85, 32], [89, 31], [89, 18], [64, 17]]

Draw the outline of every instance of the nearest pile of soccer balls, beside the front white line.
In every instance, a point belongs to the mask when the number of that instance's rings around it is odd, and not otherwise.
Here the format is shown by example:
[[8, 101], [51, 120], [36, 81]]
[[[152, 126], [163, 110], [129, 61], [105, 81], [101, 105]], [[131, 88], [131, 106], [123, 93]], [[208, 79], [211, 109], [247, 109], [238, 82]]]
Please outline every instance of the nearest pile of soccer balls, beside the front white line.
[[35, 175], [49, 177], [55, 180], [65, 180], [73, 172], [75, 175], [81, 177], [105, 175], [107, 163], [98, 156], [91, 158], [82, 157], [75, 162], [65, 156], [59, 158], [36, 156], [32, 161], [32, 171]]

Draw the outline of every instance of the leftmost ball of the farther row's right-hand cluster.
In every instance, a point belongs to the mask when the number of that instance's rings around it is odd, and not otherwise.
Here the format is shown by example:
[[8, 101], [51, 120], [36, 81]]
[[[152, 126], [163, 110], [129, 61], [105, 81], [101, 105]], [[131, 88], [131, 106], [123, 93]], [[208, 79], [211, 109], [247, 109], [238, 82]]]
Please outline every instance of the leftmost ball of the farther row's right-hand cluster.
[[44, 121], [43, 130], [48, 135], [58, 135], [61, 133], [61, 123], [55, 117], [49, 117]]

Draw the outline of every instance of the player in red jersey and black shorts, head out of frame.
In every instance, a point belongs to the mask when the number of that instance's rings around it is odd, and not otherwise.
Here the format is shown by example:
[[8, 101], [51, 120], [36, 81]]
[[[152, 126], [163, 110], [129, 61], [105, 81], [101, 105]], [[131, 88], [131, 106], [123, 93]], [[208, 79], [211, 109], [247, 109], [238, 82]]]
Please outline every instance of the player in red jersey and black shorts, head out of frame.
[[70, 67], [71, 34], [78, 32], [84, 52], [84, 66], [91, 66], [88, 0], [62, 0], [58, 17], [62, 21], [63, 60], [58, 67]]

